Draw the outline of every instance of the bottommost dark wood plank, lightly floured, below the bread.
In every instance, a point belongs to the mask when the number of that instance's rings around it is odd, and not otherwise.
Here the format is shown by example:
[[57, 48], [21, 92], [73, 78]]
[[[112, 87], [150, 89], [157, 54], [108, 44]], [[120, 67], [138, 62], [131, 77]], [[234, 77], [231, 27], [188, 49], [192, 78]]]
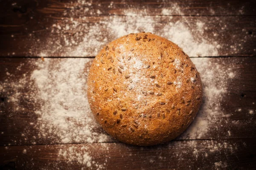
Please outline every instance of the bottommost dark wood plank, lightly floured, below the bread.
[[253, 170], [256, 139], [172, 141], [153, 147], [123, 143], [0, 147], [3, 169]]

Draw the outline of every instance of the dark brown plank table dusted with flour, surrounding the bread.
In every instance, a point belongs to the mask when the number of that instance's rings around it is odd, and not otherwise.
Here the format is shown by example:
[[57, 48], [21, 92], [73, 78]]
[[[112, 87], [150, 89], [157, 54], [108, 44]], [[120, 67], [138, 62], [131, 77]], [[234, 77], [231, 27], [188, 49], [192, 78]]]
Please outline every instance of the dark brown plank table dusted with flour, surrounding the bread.
[[[0, 169], [256, 169], [255, 0], [0, 0]], [[86, 98], [104, 44], [151, 31], [201, 73], [204, 98], [177, 139], [108, 136]]]

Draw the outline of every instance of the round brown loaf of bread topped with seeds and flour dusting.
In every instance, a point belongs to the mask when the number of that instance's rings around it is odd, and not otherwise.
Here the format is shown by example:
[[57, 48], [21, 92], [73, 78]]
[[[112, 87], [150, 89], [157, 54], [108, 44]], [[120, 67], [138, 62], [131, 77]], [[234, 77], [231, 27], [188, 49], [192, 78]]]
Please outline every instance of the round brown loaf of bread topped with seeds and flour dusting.
[[201, 78], [189, 56], [144, 32], [106, 45], [91, 65], [87, 85], [102, 128], [121, 142], [142, 146], [180, 135], [202, 99]]

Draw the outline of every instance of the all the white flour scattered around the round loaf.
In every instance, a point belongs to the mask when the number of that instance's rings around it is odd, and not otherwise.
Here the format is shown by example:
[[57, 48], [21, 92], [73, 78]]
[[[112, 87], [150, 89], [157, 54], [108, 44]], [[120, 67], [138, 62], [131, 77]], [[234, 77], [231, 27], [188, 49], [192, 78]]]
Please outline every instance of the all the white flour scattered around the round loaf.
[[[73, 8], [64, 11], [64, 18], [61, 24], [53, 23], [49, 30], [47, 42], [41, 40], [35, 41], [35, 47], [32, 47], [31, 53], [37, 51], [38, 56], [47, 57], [60, 52], [63, 56], [95, 56], [101, 49], [102, 45], [107, 42], [121, 37], [131, 32], [149, 31], [166, 37], [177, 43], [190, 57], [197, 56], [217, 56], [218, 49], [221, 48], [218, 42], [208, 39], [204, 36], [207, 30], [207, 21], [198, 17], [195, 23], [191, 23], [188, 17], [180, 17], [180, 20], [173, 20], [172, 13], [182, 15], [179, 6], [176, 4], [173, 8], [163, 8], [160, 16], [147, 16], [147, 10], [135, 10], [131, 8], [124, 10], [124, 16], [105, 16], [100, 19], [95, 17], [85, 17], [81, 15], [77, 18], [77, 14], [89, 12], [92, 5], [91, 1], [78, 0], [77, 3], [70, 4]], [[109, 8], [113, 7], [113, 2], [109, 4]], [[82, 11], [81, 11], [82, 10]], [[91, 11], [90, 11], [91, 12]], [[95, 11], [96, 14], [102, 14], [102, 11]], [[97, 20], [93, 24], [90, 20]], [[163, 24], [167, 22], [169, 24]], [[194, 24], [192, 26], [192, 24]], [[99, 31], [99, 28], [103, 31]], [[191, 29], [195, 28], [195, 29]], [[68, 34], [66, 34], [68, 32]], [[217, 33], [212, 33], [218, 37]], [[71, 36], [72, 35], [72, 36]], [[221, 35], [220, 35], [221, 36]], [[55, 38], [52, 38], [55, 37]], [[217, 39], [216, 39], [217, 40]], [[37, 44], [38, 42], [38, 44]], [[40, 45], [40, 46], [39, 46]], [[49, 46], [47, 46], [49, 45]], [[53, 47], [53, 48], [51, 48]], [[236, 48], [236, 47], [233, 47]], [[92, 142], [111, 142], [113, 139], [108, 136], [95, 122], [90, 111], [87, 101], [86, 89], [84, 86], [87, 81], [88, 68], [92, 59], [76, 58], [76, 59], [48, 59], [44, 62], [41, 59], [30, 59], [29, 63], [21, 63], [17, 67], [20, 71], [24, 65], [33, 68], [34, 71], [23, 74], [19, 79], [15, 79], [15, 75], [6, 71], [7, 79], [0, 82], [0, 91], [7, 92], [7, 102], [13, 107], [13, 113], [16, 112], [35, 112], [35, 122], [27, 122], [27, 127], [23, 132], [21, 141], [19, 142], [36, 142], [45, 143], [92, 143]], [[204, 103], [201, 110], [192, 122], [192, 125], [178, 139], [205, 139], [210, 138], [210, 133], [220, 132], [219, 124], [221, 121], [227, 121], [225, 118], [230, 116], [225, 113], [221, 103], [224, 97], [228, 95], [228, 80], [235, 79], [239, 76], [233, 69], [235, 60], [227, 60], [228, 64], [222, 68], [222, 63], [218, 63], [218, 59], [212, 58], [193, 58], [196, 68], [201, 73], [201, 79], [204, 89]], [[214, 61], [214, 62], [212, 62]], [[140, 68], [141, 63], [135, 63], [135, 68]], [[85, 70], [84, 70], [85, 68]], [[134, 82], [138, 81], [134, 79]], [[178, 84], [178, 82], [175, 82]], [[27, 88], [32, 93], [26, 93]], [[24, 105], [24, 102], [26, 105]], [[15, 111], [15, 112], [14, 112]], [[238, 109], [241, 111], [241, 109]], [[253, 114], [253, 110], [248, 111]], [[10, 114], [12, 116], [12, 114]], [[218, 117], [223, 117], [223, 120]], [[36, 119], [37, 118], [37, 119]], [[226, 129], [237, 122], [228, 122]], [[34, 129], [35, 132], [31, 132]], [[224, 131], [227, 137], [231, 135], [230, 130]], [[2, 132], [3, 134], [3, 132]], [[35, 134], [35, 136], [29, 136]], [[18, 138], [20, 138], [18, 136]], [[29, 140], [28, 140], [29, 139]], [[47, 142], [48, 143], [48, 142]], [[175, 147], [175, 144], [179, 144]], [[189, 148], [187, 148], [187, 144]], [[123, 156], [132, 156], [131, 149], [125, 144], [122, 148], [126, 148], [127, 153]], [[218, 143], [216, 141], [206, 140], [198, 146], [196, 141], [173, 141], [167, 144], [172, 148], [170, 158], [178, 158], [182, 163], [183, 158], [189, 153], [192, 160], [200, 157], [215, 156], [225, 151], [225, 154], [233, 153], [236, 145], [228, 142]], [[104, 144], [102, 147], [108, 153], [108, 147]], [[158, 159], [165, 159], [161, 155], [161, 147], [157, 147], [159, 152], [150, 159], [150, 163], [157, 162]], [[180, 150], [183, 151], [180, 152]], [[184, 149], [186, 148], [186, 150]], [[145, 149], [147, 149], [145, 147]], [[119, 150], [121, 154], [122, 150]], [[26, 150], [23, 150], [26, 154]], [[138, 154], [138, 153], [137, 153]], [[65, 159], [68, 163], [79, 163], [86, 168], [103, 169], [104, 164], [99, 164], [94, 159], [94, 155], [87, 147], [63, 147], [58, 152], [59, 159]], [[111, 159], [106, 155], [106, 162]], [[226, 162], [217, 161], [212, 163], [213, 167], [224, 169]]]

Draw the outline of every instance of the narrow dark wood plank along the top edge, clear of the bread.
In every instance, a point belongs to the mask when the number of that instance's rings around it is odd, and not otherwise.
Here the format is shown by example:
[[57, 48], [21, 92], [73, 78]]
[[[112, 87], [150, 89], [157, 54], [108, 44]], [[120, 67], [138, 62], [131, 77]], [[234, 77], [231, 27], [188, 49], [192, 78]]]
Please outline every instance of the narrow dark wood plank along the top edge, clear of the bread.
[[[0, 14], [13, 15], [16, 13], [28, 13], [33, 10], [47, 9], [48, 13], [56, 11], [70, 10], [72, 7], [77, 9], [85, 8], [87, 15], [98, 15], [97, 10], [102, 10], [101, 15], [123, 15], [123, 11], [129, 8], [144, 10], [149, 15], [161, 15], [162, 8], [169, 10], [169, 15], [255, 15], [253, 8], [256, 3], [254, 0], [9, 0], [2, 2]], [[88, 9], [87, 9], [88, 8]]]

